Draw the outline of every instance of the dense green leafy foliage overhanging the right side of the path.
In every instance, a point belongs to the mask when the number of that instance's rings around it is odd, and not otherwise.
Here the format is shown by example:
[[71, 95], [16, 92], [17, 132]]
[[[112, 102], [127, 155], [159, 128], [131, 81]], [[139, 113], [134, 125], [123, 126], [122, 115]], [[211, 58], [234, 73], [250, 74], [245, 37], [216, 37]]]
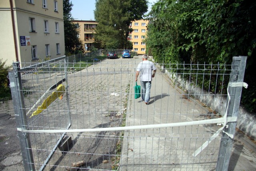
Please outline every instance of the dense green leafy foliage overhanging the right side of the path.
[[[148, 15], [147, 50], [157, 62], [167, 64], [231, 64], [233, 56], [248, 56], [246, 70], [251, 71], [255, 64], [255, 10], [256, 2], [248, 0], [158, 1]], [[245, 78], [248, 76], [254, 77], [253, 72], [246, 72]], [[227, 82], [220, 79], [204, 84], [217, 93]], [[254, 106], [255, 111], [253, 90], [246, 90], [249, 99], [243, 93], [242, 103]]]

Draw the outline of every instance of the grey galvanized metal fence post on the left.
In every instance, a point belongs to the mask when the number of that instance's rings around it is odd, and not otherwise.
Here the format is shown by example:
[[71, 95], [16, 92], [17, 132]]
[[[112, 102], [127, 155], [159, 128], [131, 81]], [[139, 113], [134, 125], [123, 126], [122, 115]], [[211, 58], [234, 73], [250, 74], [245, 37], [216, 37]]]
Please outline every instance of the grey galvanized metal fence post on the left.
[[[22, 80], [20, 74], [20, 63], [14, 62], [13, 72], [9, 72], [10, 88], [12, 91], [12, 102], [14, 107], [14, 114], [16, 119], [16, 127], [22, 129], [28, 129], [26, 127], [26, 111], [22, 93]], [[23, 165], [25, 171], [34, 171], [34, 161], [32, 156], [32, 148], [30, 144], [30, 137], [28, 133], [22, 133], [18, 131], [18, 137], [20, 140], [20, 148], [23, 158]]]

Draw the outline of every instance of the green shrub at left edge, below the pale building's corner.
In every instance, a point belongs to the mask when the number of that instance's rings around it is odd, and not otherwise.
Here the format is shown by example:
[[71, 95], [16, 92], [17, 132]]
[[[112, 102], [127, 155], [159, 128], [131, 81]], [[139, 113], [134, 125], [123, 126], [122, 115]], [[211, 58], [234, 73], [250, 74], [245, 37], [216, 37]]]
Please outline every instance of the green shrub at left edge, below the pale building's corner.
[[6, 66], [6, 61], [0, 59], [0, 99], [11, 97], [10, 87], [8, 86], [8, 70], [11, 66]]

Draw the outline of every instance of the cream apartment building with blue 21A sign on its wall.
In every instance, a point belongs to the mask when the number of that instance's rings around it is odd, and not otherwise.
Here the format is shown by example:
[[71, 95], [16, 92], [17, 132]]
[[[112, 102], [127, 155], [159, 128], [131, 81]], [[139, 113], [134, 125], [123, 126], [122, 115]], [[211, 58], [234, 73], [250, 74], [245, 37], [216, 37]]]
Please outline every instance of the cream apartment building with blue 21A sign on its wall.
[[36, 62], [65, 55], [62, 0], [0, 0], [0, 58]]

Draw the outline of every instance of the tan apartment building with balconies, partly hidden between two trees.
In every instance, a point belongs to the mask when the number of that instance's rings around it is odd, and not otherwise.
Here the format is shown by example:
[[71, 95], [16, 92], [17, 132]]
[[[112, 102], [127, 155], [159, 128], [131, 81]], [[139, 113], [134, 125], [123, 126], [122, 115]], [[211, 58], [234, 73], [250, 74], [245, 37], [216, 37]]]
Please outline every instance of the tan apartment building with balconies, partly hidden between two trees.
[[79, 24], [79, 38], [84, 43], [84, 50], [88, 51], [88, 49], [92, 46], [92, 43], [94, 42], [94, 32], [95, 28], [98, 25], [98, 22], [93, 20], [73, 20], [74, 24]]

